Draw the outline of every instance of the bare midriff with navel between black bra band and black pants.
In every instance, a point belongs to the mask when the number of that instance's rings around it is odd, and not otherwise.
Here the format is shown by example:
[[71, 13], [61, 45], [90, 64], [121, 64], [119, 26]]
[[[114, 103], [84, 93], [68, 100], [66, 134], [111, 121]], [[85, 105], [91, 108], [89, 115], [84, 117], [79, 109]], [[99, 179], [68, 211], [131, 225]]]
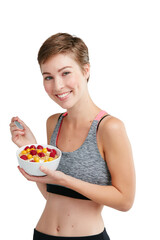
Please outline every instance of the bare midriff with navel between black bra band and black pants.
[[90, 200], [48, 193], [36, 230], [54, 236], [89, 236], [101, 233], [103, 206]]

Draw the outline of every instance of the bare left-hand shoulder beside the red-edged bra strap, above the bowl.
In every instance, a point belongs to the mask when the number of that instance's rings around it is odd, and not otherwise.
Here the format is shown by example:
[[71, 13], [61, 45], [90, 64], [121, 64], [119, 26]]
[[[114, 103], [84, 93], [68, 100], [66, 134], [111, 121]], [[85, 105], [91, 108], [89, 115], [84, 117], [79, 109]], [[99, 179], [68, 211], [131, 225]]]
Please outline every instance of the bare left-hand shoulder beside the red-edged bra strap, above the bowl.
[[46, 121], [46, 128], [47, 128], [47, 141], [48, 144], [50, 143], [50, 139], [52, 136], [52, 133], [55, 129], [55, 126], [57, 124], [58, 118], [61, 115], [61, 113], [56, 113], [51, 115], [50, 117], [48, 117], [47, 121]]

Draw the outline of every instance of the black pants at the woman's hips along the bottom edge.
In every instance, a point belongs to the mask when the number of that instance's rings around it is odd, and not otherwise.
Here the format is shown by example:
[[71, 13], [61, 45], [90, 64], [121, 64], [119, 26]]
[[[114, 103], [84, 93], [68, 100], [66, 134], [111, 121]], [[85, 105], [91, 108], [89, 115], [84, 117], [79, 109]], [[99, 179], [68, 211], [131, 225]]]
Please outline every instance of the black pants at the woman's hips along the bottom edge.
[[110, 240], [106, 229], [103, 232], [84, 237], [59, 237], [41, 233], [34, 229], [33, 240]]

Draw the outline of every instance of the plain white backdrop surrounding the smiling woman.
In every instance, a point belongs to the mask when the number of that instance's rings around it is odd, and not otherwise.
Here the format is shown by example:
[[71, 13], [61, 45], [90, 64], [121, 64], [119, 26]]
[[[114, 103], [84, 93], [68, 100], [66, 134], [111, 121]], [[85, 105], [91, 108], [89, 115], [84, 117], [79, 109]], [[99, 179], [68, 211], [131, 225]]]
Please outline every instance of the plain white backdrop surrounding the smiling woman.
[[160, 239], [160, 7], [159, 1], [1, 1], [0, 218], [3, 239], [31, 240], [45, 205], [35, 183], [17, 169], [9, 123], [19, 116], [46, 143], [46, 119], [63, 112], [47, 96], [37, 63], [46, 38], [68, 32], [89, 48], [90, 94], [121, 119], [132, 144], [137, 176], [128, 212], [105, 207], [111, 240]]

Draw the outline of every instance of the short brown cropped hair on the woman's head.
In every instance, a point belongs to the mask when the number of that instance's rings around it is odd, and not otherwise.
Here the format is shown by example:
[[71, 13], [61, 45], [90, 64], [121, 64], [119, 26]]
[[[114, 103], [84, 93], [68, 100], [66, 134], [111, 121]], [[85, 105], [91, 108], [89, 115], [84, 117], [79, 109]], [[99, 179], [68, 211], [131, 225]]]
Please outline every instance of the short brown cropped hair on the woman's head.
[[39, 65], [59, 53], [72, 54], [82, 71], [84, 65], [89, 63], [88, 48], [82, 39], [68, 33], [57, 33], [49, 37], [39, 49], [37, 58]]

